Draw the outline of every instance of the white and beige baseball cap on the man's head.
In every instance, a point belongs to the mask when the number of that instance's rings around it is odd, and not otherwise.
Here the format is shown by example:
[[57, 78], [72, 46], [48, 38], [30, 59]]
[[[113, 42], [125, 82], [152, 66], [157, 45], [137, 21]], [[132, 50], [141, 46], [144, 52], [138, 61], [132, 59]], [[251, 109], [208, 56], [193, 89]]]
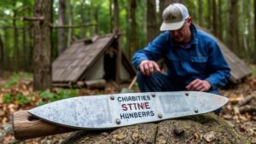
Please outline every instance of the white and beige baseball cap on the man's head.
[[164, 21], [160, 26], [160, 31], [178, 30], [189, 18], [189, 11], [181, 3], [172, 3], [164, 10], [162, 17]]

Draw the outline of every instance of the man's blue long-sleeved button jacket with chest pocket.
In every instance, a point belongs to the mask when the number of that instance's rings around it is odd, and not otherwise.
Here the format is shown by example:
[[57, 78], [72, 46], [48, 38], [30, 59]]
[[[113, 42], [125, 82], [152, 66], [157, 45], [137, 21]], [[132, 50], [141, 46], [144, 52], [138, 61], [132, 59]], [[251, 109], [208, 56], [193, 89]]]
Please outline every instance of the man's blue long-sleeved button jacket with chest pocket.
[[138, 50], [132, 58], [139, 70], [142, 60], [160, 60], [167, 66], [167, 75], [175, 84], [185, 87], [196, 78], [207, 80], [211, 89], [224, 86], [230, 78], [230, 67], [218, 47], [216, 40], [206, 32], [197, 30], [193, 24], [191, 41], [184, 46], [172, 39], [169, 32], [162, 32], [144, 49]]

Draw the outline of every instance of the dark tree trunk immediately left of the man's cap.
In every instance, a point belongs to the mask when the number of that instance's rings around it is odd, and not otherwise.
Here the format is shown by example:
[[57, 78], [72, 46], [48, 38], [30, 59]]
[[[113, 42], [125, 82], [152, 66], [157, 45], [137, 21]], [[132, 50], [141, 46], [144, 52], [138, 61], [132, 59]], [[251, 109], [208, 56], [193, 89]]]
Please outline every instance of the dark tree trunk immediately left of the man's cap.
[[147, 1], [147, 42], [150, 42], [158, 33], [155, 0]]

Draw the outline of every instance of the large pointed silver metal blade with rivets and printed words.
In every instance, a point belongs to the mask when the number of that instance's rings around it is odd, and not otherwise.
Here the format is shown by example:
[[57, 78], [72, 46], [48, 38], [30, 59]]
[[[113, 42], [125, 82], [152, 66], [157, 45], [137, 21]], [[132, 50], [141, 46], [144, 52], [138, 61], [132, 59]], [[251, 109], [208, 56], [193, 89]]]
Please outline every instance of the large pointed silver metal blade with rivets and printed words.
[[29, 112], [50, 123], [76, 129], [115, 127], [212, 112], [228, 98], [205, 92], [152, 92], [69, 98]]

